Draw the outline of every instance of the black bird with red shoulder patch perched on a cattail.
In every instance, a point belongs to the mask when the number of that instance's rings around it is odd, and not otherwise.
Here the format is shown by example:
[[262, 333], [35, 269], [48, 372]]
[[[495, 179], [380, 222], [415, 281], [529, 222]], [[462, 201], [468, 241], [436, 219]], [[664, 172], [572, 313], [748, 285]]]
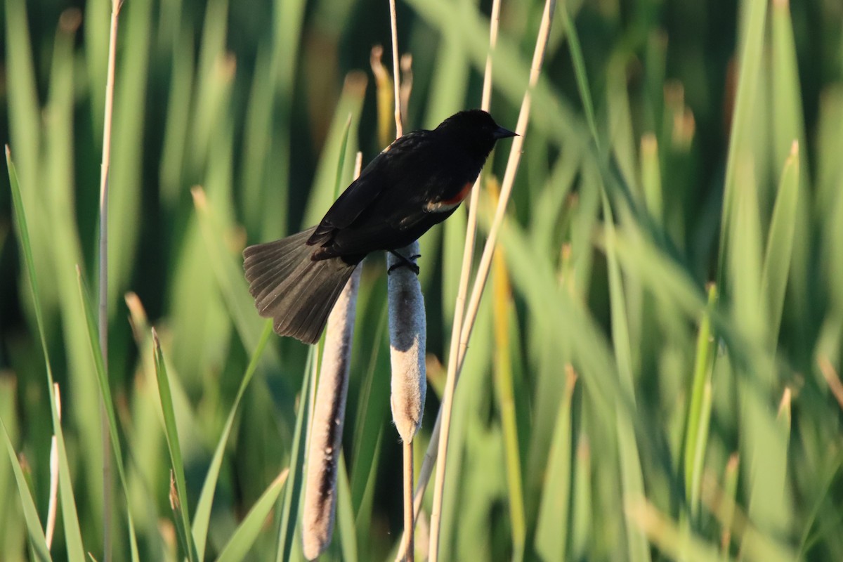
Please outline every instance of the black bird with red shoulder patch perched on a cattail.
[[469, 110], [432, 131], [401, 136], [363, 169], [318, 227], [244, 250], [260, 315], [274, 320], [278, 335], [316, 343], [354, 267], [375, 250], [395, 253], [450, 217], [497, 139], [514, 135], [486, 111]]

